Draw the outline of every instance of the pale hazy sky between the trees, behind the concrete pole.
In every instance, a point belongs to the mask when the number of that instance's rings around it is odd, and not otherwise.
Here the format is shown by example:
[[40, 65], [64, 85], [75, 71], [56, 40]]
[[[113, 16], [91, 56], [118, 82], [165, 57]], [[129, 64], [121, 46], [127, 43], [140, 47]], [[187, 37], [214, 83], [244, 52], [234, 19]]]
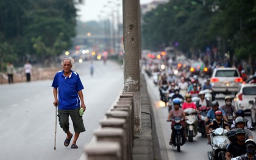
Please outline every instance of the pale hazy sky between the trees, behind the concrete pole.
[[[99, 21], [99, 16], [104, 18], [107, 16], [107, 13], [112, 12], [112, 9], [117, 10], [117, 4], [121, 4], [122, 0], [84, 0], [83, 5], [77, 6], [80, 10], [77, 14], [79, 15], [78, 20], [80, 21]], [[148, 4], [154, 0], [140, 0], [140, 4]], [[104, 5], [108, 5], [109, 7], [104, 7]], [[112, 9], [111, 7], [112, 6]], [[121, 5], [119, 7], [119, 14], [121, 14]], [[104, 12], [101, 12], [101, 11]], [[116, 11], [115, 11], [116, 12]]]

